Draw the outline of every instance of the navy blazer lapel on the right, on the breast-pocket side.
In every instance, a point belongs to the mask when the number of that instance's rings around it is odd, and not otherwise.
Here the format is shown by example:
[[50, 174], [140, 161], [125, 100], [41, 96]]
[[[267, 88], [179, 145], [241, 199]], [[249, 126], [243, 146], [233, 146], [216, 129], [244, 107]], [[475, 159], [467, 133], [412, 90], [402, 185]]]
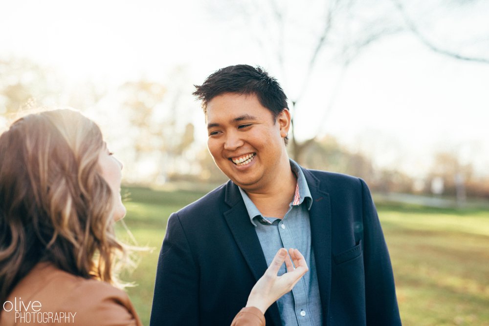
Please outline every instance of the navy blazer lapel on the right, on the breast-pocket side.
[[319, 180], [307, 169], [302, 169], [311, 191], [312, 205], [311, 243], [314, 250], [319, 294], [323, 309], [323, 321], [327, 325], [331, 293], [331, 201], [330, 195], [321, 187]]

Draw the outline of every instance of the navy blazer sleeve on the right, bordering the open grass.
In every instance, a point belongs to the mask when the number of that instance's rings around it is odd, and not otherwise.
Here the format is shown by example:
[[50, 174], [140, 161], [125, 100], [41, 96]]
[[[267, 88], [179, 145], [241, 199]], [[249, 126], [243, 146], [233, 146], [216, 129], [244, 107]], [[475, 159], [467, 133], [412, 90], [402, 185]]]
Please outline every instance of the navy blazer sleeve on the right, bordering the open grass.
[[360, 181], [367, 325], [401, 325], [389, 252], [370, 191]]

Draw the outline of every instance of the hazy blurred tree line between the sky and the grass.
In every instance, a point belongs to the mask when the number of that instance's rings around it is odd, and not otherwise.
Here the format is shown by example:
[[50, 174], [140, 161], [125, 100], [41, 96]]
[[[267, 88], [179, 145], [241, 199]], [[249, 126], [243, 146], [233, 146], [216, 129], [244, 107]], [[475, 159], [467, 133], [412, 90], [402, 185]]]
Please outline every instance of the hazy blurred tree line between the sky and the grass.
[[[0, 117], [15, 115], [30, 106], [49, 107], [56, 103], [95, 111], [115, 105], [116, 114], [124, 117], [121, 119], [124, 123], [108, 123], [111, 128], [120, 129], [118, 135], [123, 136], [119, 141], [123, 142], [126, 160], [130, 162], [125, 165], [127, 182], [222, 183], [226, 181], [224, 174], [205, 145], [195, 141], [190, 118], [200, 108], [196, 102], [188, 104], [184, 100], [184, 94], [190, 91], [182, 85], [191, 86], [191, 82], [182, 78], [182, 74], [182, 69], [176, 69], [173, 88], [141, 78], [122, 83], [114, 96], [90, 82], [67, 89], [55, 72], [28, 60], [0, 60]], [[308, 142], [300, 152], [289, 146], [291, 157], [295, 153], [295, 160], [309, 168], [358, 176], [377, 192], [489, 199], [489, 176], [476, 175], [473, 166], [461, 163], [454, 153], [435, 153], [433, 165], [419, 179], [396, 166], [379, 168], [366, 154], [348, 149], [332, 136], [315, 137]]]

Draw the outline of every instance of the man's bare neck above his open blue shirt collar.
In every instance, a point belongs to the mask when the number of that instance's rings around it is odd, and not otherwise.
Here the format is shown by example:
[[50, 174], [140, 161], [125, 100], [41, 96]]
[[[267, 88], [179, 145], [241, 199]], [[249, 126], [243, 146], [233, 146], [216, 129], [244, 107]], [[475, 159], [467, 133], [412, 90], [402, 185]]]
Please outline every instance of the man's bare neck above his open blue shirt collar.
[[290, 163], [282, 164], [274, 180], [269, 182], [267, 189], [247, 191], [249, 199], [265, 217], [282, 219], [289, 210], [289, 204], [295, 194], [297, 177], [290, 169]]

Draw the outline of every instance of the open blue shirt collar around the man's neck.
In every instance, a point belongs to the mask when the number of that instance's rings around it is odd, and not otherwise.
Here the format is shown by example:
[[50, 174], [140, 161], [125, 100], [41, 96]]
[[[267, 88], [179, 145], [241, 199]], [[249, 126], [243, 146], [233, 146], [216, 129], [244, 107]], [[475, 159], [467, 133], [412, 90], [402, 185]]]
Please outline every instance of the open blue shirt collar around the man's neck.
[[[304, 201], [306, 201], [307, 209], [310, 210], [312, 205], [312, 197], [311, 197], [311, 191], [309, 190], [309, 186], [307, 185], [306, 182], [306, 177], [304, 176], [304, 172], [302, 172], [300, 165], [297, 164], [295, 161], [289, 159], [289, 162], [290, 162], [290, 169], [297, 176], [296, 192], [290, 204], [300, 205]], [[253, 204], [251, 199], [249, 199], [246, 192], [241, 187], [238, 188], [240, 189], [241, 196], [243, 197], [244, 205], [246, 206], [246, 210], [248, 211], [251, 224], [256, 226], [256, 223], [253, 221], [253, 219], [257, 216], [260, 217], [263, 216], [258, 210], [258, 208], [256, 208], [255, 204]]]

